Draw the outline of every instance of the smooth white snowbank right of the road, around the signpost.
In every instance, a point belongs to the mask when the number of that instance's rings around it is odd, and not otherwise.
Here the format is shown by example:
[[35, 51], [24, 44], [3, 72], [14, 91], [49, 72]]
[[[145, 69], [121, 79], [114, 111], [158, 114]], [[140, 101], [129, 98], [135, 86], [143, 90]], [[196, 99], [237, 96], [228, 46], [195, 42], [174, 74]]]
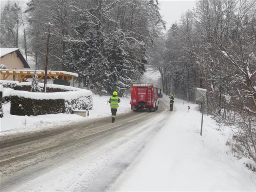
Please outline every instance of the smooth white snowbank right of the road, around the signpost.
[[201, 114], [195, 104], [183, 102], [175, 99], [166, 125], [110, 190], [256, 191], [256, 174], [243, 165], [246, 158], [227, 154], [230, 128], [217, 131], [216, 122], [204, 116], [201, 137]]

